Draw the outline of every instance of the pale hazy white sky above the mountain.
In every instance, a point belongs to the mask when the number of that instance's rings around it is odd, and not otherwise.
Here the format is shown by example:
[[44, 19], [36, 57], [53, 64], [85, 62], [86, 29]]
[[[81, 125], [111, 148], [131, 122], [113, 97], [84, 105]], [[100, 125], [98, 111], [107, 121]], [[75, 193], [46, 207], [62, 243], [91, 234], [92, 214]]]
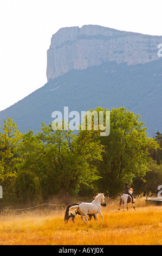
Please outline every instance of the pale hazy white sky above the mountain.
[[0, 0], [0, 111], [47, 82], [47, 50], [60, 28], [162, 35], [161, 17], [162, 0]]

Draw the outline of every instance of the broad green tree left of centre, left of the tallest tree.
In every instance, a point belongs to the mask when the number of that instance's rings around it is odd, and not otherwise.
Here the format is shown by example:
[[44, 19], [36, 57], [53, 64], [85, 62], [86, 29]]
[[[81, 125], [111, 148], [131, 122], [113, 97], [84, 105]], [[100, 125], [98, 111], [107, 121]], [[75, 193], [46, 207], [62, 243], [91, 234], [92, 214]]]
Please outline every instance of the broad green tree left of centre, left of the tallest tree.
[[21, 148], [25, 161], [22, 168], [34, 172], [41, 181], [42, 193], [62, 192], [75, 195], [80, 185], [93, 186], [99, 179], [94, 160], [101, 160], [102, 147], [94, 142], [87, 131], [53, 131], [51, 125], [42, 124], [41, 132], [31, 131], [24, 136]]

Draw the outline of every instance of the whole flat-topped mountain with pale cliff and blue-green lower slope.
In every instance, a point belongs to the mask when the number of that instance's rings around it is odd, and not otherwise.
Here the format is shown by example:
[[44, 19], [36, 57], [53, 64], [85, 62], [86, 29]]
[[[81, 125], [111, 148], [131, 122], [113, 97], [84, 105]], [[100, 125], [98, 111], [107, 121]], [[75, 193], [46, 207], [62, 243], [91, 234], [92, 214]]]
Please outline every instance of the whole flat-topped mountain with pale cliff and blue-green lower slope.
[[[40, 131], [54, 111], [126, 107], [141, 115], [148, 136], [162, 127], [162, 36], [100, 26], [62, 28], [47, 52], [47, 84], [0, 112], [21, 132]], [[22, 81], [23, 82], [23, 81]]]

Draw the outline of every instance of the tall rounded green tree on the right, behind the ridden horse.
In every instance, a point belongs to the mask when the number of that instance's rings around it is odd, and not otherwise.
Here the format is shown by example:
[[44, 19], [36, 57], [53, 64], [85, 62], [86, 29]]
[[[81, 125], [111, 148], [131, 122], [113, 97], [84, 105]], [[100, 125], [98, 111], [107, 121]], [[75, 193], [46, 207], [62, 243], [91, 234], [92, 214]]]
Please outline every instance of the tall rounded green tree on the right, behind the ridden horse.
[[[96, 111], [107, 111], [97, 108]], [[144, 177], [148, 171], [148, 151], [157, 149], [157, 142], [147, 138], [144, 123], [138, 121], [126, 108], [112, 109], [109, 136], [100, 137], [104, 146], [103, 161], [98, 166], [99, 187], [110, 196], [122, 191], [125, 182], [132, 182], [135, 176]]]

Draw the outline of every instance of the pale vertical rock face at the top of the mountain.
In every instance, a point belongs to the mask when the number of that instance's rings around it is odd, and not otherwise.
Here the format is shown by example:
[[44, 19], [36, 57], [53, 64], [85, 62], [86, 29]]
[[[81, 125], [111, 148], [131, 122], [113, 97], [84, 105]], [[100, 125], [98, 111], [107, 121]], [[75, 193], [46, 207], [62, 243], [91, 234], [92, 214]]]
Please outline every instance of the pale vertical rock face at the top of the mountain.
[[88, 25], [62, 28], [51, 38], [47, 52], [47, 79], [103, 62], [128, 65], [158, 60], [162, 36], [143, 35]]

